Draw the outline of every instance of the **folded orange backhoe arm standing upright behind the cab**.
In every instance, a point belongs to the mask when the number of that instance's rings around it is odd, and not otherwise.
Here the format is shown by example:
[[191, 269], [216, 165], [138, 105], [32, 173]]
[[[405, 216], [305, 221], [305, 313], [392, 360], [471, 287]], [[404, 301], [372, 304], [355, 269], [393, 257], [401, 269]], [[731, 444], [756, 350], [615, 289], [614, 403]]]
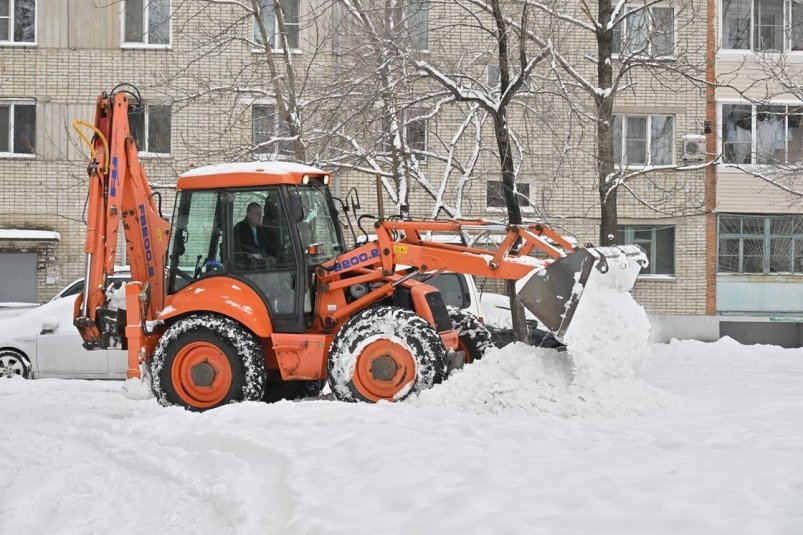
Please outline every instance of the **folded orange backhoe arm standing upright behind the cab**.
[[[159, 215], [148, 177], [139, 161], [138, 149], [129, 127], [127, 91], [102, 93], [95, 106], [95, 133], [90, 147], [87, 231], [84, 243], [86, 274], [84, 291], [75, 302], [74, 323], [84, 346], [107, 347], [109, 326], [101, 311], [109, 306], [106, 277], [114, 272], [117, 234], [123, 224], [131, 278], [141, 283], [138, 316], [156, 317], [164, 304], [164, 262], [170, 224]], [[139, 102], [136, 102], [139, 105]], [[79, 122], [80, 123], [80, 122]], [[76, 127], [77, 129], [77, 127]], [[129, 300], [129, 308], [131, 301]], [[130, 312], [129, 312], [130, 313]]]

